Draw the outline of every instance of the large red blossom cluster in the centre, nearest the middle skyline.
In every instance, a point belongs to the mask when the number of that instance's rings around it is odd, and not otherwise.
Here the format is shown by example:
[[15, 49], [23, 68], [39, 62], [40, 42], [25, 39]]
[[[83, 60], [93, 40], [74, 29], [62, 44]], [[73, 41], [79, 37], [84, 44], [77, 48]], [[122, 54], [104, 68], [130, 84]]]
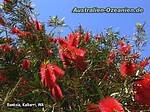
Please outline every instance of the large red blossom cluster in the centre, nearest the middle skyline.
[[[85, 70], [86, 63], [84, 62], [86, 50], [84, 48], [78, 48], [79, 42], [82, 36], [80, 33], [71, 33], [68, 35], [68, 41], [59, 38], [58, 42], [60, 44], [59, 55], [66, 68], [72, 62], [80, 70]], [[84, 36], [84, 42], [87, 43], [90, 39], [90, 34], [86, 33]]]

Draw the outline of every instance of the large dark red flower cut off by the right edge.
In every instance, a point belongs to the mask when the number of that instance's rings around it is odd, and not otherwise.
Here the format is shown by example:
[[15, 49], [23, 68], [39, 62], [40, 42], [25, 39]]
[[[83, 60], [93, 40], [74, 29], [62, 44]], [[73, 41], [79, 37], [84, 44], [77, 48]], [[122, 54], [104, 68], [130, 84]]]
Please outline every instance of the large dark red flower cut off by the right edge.
[[150, 74], [143, 77], [142, 80], [134, 82], [135, 100], [145, 106], [150, 106]]

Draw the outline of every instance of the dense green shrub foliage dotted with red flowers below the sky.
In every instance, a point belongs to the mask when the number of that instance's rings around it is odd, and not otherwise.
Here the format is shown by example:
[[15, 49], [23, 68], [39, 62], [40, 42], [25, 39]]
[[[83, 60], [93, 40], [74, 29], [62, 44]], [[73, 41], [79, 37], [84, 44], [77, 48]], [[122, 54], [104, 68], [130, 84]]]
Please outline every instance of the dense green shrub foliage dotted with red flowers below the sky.
[[[146, 100], [150, 99], [150, 72], [145, 69], [150, 57], [140, 55], [144, 25], [136, 25], [136, 44], [131, 45], [112, 28], [92, 35], [79, 26], [65, 38], [56, 37], [54, 30], [65, 26], [64, 18], [50, 18], [50, 34], [34, 18], [31, 1], [4, 0], [0, 14], [2, 111], [103, 112], [105, 101], [110, 102], [110, 111], [150, 110]], [[8, 102], [42, 102], [44, 107], [9, 108]]]

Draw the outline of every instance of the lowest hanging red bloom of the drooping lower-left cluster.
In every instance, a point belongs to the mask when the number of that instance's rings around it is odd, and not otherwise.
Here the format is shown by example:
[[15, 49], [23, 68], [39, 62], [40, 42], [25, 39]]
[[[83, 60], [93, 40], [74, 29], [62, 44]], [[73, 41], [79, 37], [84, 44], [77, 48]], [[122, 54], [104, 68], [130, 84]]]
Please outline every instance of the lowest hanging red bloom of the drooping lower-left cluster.
[[57, 84], [52, 88], [52, 95], [56, 100], [61, 100], [63, 98], [62, 91]]

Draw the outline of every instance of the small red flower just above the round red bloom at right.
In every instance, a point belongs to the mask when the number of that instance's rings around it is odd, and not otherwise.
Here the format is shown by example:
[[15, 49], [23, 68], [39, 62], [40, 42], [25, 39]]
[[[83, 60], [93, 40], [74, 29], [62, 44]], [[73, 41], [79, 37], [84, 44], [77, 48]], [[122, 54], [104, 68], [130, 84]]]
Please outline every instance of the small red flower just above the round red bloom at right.
[[120, 42], [120, 53], [124, 56], [126, 56], [127, 54], [129, 54], [131, 51], [131, 46], [127, 45], [125, 46], [123, 41]]

